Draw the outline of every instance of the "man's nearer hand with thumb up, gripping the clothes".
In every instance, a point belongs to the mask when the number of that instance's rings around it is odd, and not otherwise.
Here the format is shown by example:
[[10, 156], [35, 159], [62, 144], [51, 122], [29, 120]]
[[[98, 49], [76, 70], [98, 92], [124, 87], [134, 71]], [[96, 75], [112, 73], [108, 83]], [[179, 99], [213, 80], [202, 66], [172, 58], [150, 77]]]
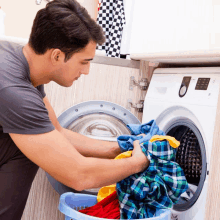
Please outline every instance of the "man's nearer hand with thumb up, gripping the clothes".
[[150, 161], [146, 157], [146, 155], [141, 150], [141, 146], [139, 144], [139, 140], [133, 142], [134, 150], [132, 152], [132, 157], [137, 159], [137, 170], [138, 172], [144, 171], [150, 164]]

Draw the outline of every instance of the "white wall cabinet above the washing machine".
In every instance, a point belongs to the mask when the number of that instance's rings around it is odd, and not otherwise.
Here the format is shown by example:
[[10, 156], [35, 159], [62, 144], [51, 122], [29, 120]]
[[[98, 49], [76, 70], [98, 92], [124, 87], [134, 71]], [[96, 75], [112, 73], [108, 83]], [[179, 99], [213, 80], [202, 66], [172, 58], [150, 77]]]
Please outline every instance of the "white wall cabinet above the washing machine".
[[[127, 0], [132, 1], [132, 0]], [[135, 0], [130, 31], [134, 59], [218, 57], [219, 0]], [[159, 60], [160, 57], [160, 60]], [[219, 61], [219, 59], [218, 59]]]

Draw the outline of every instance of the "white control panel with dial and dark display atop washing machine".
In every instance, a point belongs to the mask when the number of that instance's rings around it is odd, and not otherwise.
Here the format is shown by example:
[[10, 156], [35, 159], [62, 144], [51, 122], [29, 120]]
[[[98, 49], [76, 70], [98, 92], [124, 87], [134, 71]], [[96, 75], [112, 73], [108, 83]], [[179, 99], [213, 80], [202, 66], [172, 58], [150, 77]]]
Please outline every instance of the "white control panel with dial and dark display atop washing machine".
[[216, 107], [219, 90], [220, 67], [157, 68], [147, 97], [175, 105]]

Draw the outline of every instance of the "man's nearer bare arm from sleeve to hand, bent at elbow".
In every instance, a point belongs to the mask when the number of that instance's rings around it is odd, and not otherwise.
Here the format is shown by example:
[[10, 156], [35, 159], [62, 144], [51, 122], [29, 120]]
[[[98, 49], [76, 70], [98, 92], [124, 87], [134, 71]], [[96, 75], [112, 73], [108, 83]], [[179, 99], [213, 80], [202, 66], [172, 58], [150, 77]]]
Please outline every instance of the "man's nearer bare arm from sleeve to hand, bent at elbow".
[[82, 156], [56, 129], [44, 134], [14, 134], [10, 136], [31, 161], [59, 182], [84, 190], [116, 183], [143, 171], [149, 161], [136, 143], [132, 157], [121, 160]]

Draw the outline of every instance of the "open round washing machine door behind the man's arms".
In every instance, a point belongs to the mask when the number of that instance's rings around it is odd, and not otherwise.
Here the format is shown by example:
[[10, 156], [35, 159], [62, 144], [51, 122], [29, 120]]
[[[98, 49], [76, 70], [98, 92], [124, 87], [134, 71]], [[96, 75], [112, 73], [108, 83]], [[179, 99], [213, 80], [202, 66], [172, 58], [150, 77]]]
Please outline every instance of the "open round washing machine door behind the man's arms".
[[[88, 101], [72, 106], [58, 117], [58, 121], [64, 128], [105, 141], [117, 141], [118, 136], [130, 134], [130, 130], [126, 127], [127, 124], [141, 124], [127, 109], [107, 101]], [[58, 182], [48, 173], [46, 175], [60, 195], [65, 192], [97, 195], [100, 189], [79, 192]]]

